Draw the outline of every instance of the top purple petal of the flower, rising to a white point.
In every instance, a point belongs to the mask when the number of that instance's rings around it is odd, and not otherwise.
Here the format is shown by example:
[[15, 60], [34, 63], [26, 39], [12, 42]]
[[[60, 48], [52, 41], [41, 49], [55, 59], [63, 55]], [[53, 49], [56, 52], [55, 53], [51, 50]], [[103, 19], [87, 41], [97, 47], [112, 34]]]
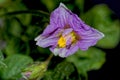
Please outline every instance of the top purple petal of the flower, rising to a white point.
[[50, 24], [56, 24], [57, 27], [64, 28], [66, 25], [75, 31], [84, 28], [90, 29], [76, 14], [72, 13], [64, 4], [60, 3], [59, 7], [51, 13]]

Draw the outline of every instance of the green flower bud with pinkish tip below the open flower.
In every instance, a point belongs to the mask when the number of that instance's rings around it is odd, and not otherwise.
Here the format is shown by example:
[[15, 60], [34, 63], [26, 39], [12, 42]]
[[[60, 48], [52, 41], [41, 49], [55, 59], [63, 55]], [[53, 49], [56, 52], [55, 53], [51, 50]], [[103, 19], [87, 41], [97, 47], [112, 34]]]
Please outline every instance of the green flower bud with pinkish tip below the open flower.
[[36, 62], [22, 71], [23, 78], [26, 80], [38, 80], [44, 76], [48, 63]]

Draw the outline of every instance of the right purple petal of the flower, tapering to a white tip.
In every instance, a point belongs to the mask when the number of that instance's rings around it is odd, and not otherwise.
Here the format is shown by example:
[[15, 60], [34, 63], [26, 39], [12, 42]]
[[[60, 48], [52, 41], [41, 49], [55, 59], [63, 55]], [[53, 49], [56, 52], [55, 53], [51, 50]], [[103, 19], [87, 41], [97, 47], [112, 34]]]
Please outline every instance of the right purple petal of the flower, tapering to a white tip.
[[83, 33], [79, 35], [81, 36], [81, 39], [79, 40], [79, 48], [81, 50], [87, 50], [90, 46], [94, 46], [98, 40], [104, 37], [103, 33], [93, 28], [89, 31], [83, 31]]

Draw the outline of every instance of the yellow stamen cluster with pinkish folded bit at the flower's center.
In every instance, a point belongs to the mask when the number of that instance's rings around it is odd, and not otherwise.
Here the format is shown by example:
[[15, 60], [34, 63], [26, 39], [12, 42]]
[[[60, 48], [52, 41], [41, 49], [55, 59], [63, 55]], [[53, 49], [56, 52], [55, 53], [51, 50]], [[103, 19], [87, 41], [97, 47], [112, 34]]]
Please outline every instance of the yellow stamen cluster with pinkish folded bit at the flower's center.
[[66, 45], [71, 45], [76, 42], [76, 35], [74, 32], [69, 33], [68, 35], [61, 36], [57, 42], [58, 47], [64, 48]]

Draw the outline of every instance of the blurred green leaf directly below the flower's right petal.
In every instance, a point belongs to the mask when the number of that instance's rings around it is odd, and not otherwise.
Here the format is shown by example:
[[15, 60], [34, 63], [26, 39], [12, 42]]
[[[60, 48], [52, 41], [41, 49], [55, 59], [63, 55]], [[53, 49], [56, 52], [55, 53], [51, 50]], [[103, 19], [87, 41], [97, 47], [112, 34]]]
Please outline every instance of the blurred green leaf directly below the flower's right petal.
[[105, 53], [97, 48], [89, 48], [87, 51], [78, 51], [67, 58], [73, 62], [80, 74], [85, 75], [87, 71], [100, 69], [105, 62]]

